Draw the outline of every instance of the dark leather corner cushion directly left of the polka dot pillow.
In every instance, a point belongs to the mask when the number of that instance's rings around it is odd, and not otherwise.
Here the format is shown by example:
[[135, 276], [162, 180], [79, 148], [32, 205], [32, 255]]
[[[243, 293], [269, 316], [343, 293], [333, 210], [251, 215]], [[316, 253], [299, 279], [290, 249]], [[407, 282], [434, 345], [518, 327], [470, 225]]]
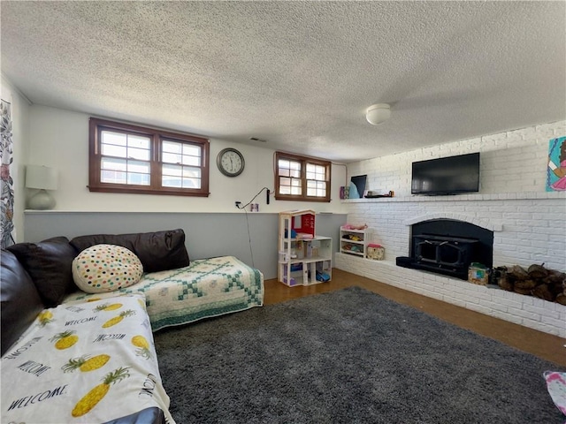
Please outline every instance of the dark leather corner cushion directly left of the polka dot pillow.
[[65, 294], [75, 291], [71, 266], [77, 251], [66, 237], [8, 247], [27, 270], [46, 307], [56, 307]]

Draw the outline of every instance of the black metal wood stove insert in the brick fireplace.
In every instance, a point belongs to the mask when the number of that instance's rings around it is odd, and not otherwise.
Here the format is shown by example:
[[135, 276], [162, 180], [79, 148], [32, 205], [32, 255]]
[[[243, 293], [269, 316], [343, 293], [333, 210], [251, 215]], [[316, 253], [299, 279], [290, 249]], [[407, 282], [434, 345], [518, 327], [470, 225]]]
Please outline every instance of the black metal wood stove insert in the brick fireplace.
[[423, 269], [468, 279], [472, 262], [493, 266], [493, 231], [454, 219], [435, 219], [411, 226], [410, 256], [397, 258], [404, 268]]

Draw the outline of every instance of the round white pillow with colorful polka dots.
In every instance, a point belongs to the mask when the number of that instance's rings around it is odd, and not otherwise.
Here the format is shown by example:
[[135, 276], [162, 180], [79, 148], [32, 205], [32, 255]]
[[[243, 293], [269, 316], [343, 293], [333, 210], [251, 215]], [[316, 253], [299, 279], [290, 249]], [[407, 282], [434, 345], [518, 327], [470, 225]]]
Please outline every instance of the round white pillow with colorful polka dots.
[[114, 292], [140, 281], [143, 266], [129, 249], [96, 245], [80, 252], [73, 260], [73, 280], [83, 292]]

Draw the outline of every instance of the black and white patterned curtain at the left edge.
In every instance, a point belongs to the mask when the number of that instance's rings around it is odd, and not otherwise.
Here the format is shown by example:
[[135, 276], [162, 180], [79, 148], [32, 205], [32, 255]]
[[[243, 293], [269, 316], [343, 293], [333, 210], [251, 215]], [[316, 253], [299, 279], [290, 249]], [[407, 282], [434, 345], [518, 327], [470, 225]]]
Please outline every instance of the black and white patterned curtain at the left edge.
[[2, 200], [2, 210], [0, 215], [2, 218], [0, 242], [2, 248], [14, 244], [13, 231], [14, 231], [14, 183], [10, 175], [10, 166], [13, 161], [12, 158], [12, 141], [11, 141], [11, 104], [2, 101], [0, 105], [0, 113], [2, 114], [2, 121], [0, 122], [0, 133], [2, 140], [0, 141], [0, 193]]

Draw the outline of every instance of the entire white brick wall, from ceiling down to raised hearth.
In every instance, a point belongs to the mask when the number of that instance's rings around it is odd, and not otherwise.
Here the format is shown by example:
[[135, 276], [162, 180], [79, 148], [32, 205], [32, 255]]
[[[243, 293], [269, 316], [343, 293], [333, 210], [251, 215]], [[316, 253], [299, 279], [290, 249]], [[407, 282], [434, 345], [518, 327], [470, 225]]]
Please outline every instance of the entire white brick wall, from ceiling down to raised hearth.
[[[548, 142], [566, 135], [566, 121], [537, 125], [442, 146], [348, 164], [348, 176], [367, 174], [367, 189], [394, 198], [344, 201], [348, 223], [367, 223], [386, 247], [386, 261], [336, 254], [336, 267], [435, 299], [566, 337], [566, 307], [395, 265], [409, 255], [410, 224], [439, 217], [494, 232], [493, 266], [545, 263], [566, 270], [566, 193], [546, 192]], [[481, 152], [480, 191], [411, 196], [413, 161]], [[422, 218], [422, 219], [421, 219]]]

